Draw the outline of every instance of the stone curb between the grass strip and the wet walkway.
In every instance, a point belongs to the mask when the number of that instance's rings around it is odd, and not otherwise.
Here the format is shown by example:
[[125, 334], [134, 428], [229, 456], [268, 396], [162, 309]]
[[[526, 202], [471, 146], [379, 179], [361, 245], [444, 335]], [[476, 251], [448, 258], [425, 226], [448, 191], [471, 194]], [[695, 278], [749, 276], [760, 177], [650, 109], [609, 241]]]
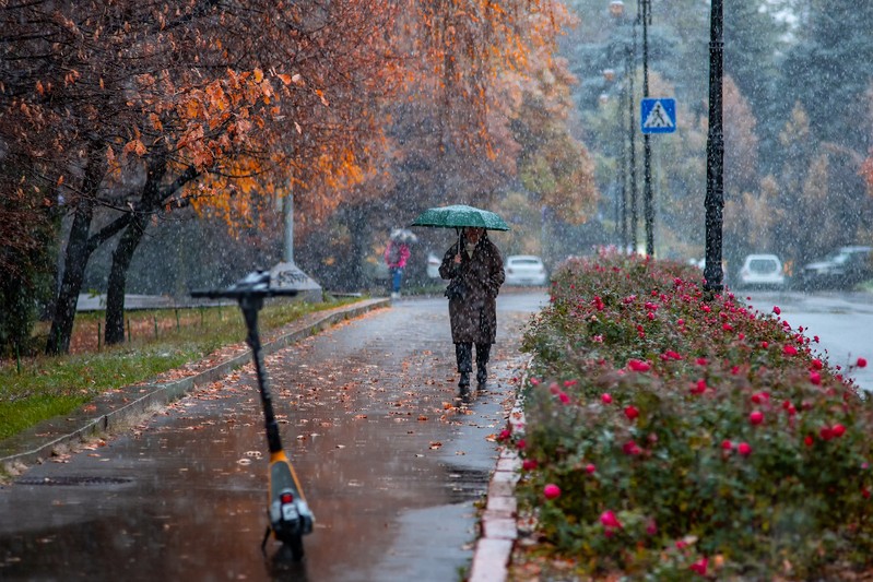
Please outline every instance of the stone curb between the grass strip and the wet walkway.
[[[310, 335], [316, 335], [343, 320], [390, 305], [391, 301], [386, 298], [368, 299], [352, 306], [316, 312], [311, 316], [314, 320], [291, 323], [288, 324], [291, 331], [263, 342], [261, 346], [263, 355], [268, 356]], [[78, 413], [45, 420], [0, 442], [0, 466], [42, 463], [59, 448], [82, 442], [101, 432], [128, 427], [133, 419], [143, 414], [166, 406], [198, 387], [215, 382], [249, 361], [251, 361], [251, 351], [246, 347], [240, 354], [181, 380], [129, 387], [115, 393], [102, 394], [93, 402], [96, 415], [93, 408], [85, 413], [80, 407]]]

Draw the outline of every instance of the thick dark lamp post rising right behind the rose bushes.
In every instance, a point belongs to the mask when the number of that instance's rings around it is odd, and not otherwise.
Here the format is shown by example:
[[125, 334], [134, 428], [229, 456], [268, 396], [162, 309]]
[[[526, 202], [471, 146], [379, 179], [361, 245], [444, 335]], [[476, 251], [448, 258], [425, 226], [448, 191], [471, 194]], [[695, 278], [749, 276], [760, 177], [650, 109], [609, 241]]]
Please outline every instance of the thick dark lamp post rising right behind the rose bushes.
[[722, 0], [712, 0], [709, 37], [709, 133], [706, 142], [706, 265], [704, 290], [723, 288], [721, 270], [722, 211], [724, 209], [724, 134], [722, 132]]

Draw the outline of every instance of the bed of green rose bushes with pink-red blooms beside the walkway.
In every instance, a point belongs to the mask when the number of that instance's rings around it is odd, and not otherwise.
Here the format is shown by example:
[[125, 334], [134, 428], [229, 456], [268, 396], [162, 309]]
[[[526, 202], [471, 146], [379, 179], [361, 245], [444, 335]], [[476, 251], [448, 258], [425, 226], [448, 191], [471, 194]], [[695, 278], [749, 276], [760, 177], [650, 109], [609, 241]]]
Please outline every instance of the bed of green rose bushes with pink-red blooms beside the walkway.
[[698, 270], [603, 254], [531, 323], [518, 495], [580, 574], [834, 575], [873, 562], [873, 405], [817, 338]]

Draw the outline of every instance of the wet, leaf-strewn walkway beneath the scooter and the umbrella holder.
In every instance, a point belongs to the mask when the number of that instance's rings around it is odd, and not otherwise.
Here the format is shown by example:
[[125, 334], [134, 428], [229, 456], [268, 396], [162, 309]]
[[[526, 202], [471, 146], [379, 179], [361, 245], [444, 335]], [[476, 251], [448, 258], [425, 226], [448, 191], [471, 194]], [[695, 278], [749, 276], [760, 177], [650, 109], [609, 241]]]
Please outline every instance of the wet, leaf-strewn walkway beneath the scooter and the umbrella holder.
[[520, 336], [545, 301], [502, 294], [489, 382], [468, 404], [444, 298], [397, 301], [267, 358], [316, 516], [302, 562], [272, 542], [261, 554], [267, 447], [247, 366], [0, 488], [0, 580], [459, 580]]

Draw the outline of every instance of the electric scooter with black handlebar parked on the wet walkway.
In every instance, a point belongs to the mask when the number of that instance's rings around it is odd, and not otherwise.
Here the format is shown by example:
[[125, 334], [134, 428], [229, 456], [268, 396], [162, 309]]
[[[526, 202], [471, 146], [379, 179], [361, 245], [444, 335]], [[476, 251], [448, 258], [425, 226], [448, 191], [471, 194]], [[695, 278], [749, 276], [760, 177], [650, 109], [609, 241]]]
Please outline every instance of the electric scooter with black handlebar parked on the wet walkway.
[[267, 541], [270, 534], [273, 538], [284, 544], [294, 560], [303, 558], [303, 536], [312, 533], [315, 518], [303, 495], [303, 488], [294, 472], [294, 467], [282, 447], [279, 436], [279, 423], [273, 413], [273, 402], [267, 370], [263, 365], [263, 351], [258, 334], [258, 311], [263, 307], [264, 297], [294, 296], [296, 289], [270, 287], [270, 273], [256, 271], [238, 281], [226, 289], [196, 290], [191, 297], [207, 297], [211, 299], [236, 299], [246, 320], [248, 335], [246, 343], [251, 348], [255, 360], [255, 371], [258, 376], [258, 389], [261, 394], [264, 427], [267, 429], [267, 444], [270, 449], [269, 492], [267, 514], [270, 524], [263, 534], [261, 551], [266, 553]]

